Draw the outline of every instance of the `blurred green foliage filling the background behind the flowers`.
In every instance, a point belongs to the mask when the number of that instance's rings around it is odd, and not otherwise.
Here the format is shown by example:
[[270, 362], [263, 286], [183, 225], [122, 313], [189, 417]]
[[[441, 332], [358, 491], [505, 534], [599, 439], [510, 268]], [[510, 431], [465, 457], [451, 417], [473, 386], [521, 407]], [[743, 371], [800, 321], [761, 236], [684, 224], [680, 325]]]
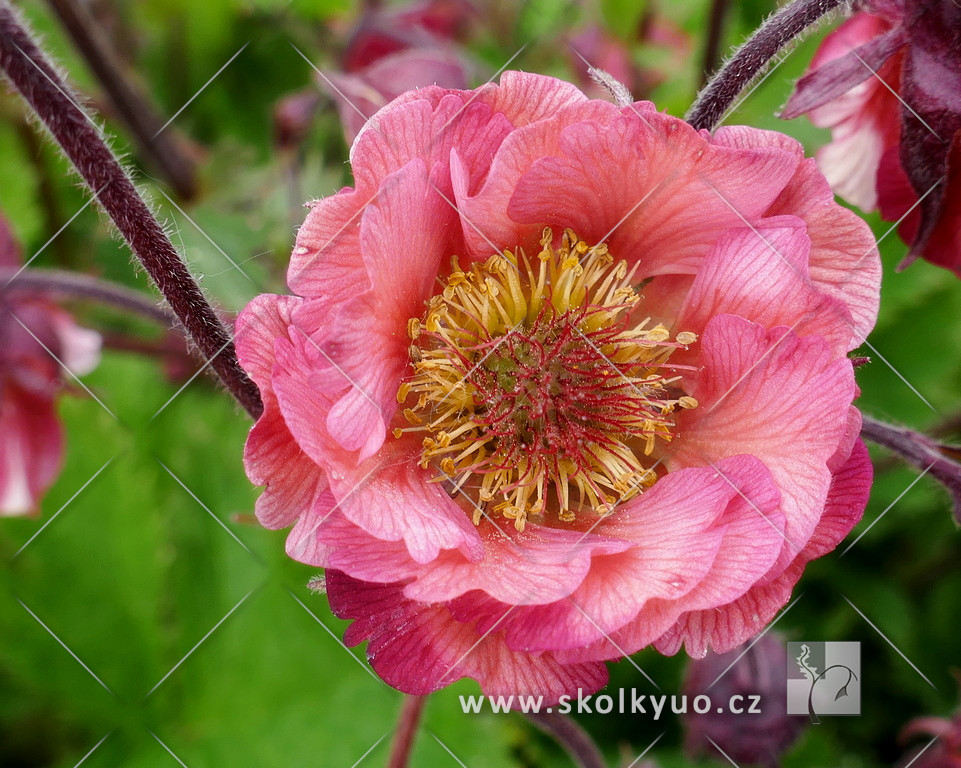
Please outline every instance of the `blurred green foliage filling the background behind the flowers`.
[[[94, 5], [162, 114], [192, 99], [173, 130], [199, 149], [201, 193], [179, 202], [182, 211], [107, 119], [174, 242], [227, 311], [258, 293], [283, 291], [302, 202], [349, 183], [349, 170], [329, 102], [296, 149], [275, 145], [272, 112], [281, 96], [314, 82], [293, 46], [318, 67], [336, 68], [360, 9], [347, 0]], [[47, 6], [31, 0], [23, 7], [71, 80], [103, 107], [96, 80]], [[645, 95], [660, 108], [682, 114], [700, 80], [703, 0], [479, 7], [467, 54], [481, 81], [525, 44], [512, 67], [571, 77], [567, 40], [592, 23], [631, 41], [635, 64], [652, 75]], [[740, 4], [729, 14], [727, 44], [770, 10], [768, 0]], [[658, 51], [634, 42], [629, 30], [642, 12], [669, 24], [689, 48]], [[824, 131], [804, 120], [782, 123], [775, 113], [815, 45], [816, 38], [799, 45], [731, 120], [783, 130], [814, 151]], [[87, 198], [29, 122], [16, 98], [0, 95], [0, 209], [33, 254]], [[879, 236], [887, 231], [877, 219], [871, 224]], [[872, 362], [858, 374], [860, 406], [930, 428], [959, 407], [961, 289], [925, 263], [896, 273], [904, 251], [896, 235], [884, 238], [882, 313], [874, 350], [864, 352]], [[89, 207], [36, 265], [149, 290]], [[157, 338], [142, 323], [76, 310], [98, 328]], [[313, 573], [284, 555], [284, 533], [250, 524], [257, 491], [241, 464], [246, 417], [205, 376], [172, 381], [159, 361], [122, 351], [108, 351], [85, 383], [106, 408], [82, 392], [63, 400], [69, 453], [42, 515], [0, 523], [0, 764], [69, 768], [91, 750], [85, 766], [383, 764], [401, 696], [373, 677], [361, 650], [341, 646], [343, 622], [306, 590]], [[791, 639], [862, 643], [864, 714], [809, 729], [786, 766], [892, 764], [908, 719], [946, 714], [957, 703], [951, 670], [961, 667], [961, 537], [939, 488], [927, 478], [912, 485], [912, 472], [877, 459], [872, 500], [850, 540], [873, 527], [843, 557], [842, 547], [809, 567], [796, 592], [801, 599], [777, 625]], [[679, 690], [683, 658], [643, 652], [634, 662], [662, 690]], [[612, 686], [653, 692], [629, 662], [612, 666]], [[461, 682], [431, 697], [413, 765], [563, 764], [558, 748], [518, 715], [461, 714], [457, 696], [475, 692]], [[648, 757], [690, 764], [676, 719], [580, 720], [611, 761], [630, 763], [666, 732]]]

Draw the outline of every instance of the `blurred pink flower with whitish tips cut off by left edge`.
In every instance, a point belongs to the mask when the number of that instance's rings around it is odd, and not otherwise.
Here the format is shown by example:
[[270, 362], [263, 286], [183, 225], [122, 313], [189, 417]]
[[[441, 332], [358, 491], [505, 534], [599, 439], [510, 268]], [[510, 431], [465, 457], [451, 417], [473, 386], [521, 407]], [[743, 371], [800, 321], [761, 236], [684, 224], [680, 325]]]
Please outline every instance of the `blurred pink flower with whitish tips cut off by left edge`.
[[[19, 249], [0, 219], [0, 270], [12, 272], [20, 264]], [[63, 460], [55, 401], [66, 374], [50, 353], [75, 375], [89, 373], [99, 361], [100, 336], [78, 327], [43, 296], [4, 288], [0, 286], [0, 515], [23, 515], [37, 511]]]

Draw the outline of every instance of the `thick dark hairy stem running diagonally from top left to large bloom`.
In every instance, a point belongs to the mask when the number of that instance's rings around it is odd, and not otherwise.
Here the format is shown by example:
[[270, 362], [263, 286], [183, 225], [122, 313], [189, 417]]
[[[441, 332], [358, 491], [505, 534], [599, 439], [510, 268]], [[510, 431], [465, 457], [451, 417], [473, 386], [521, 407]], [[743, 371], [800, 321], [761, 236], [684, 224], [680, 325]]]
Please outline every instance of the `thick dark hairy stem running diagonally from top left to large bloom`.
[[99, 130], [68, 95], [18, 16], [7, 0], [0, 0], [0, 67], [93, 191], [211, 368], [257, 418], [263, 411], [260, 392], [240, 367], [233, 339]]

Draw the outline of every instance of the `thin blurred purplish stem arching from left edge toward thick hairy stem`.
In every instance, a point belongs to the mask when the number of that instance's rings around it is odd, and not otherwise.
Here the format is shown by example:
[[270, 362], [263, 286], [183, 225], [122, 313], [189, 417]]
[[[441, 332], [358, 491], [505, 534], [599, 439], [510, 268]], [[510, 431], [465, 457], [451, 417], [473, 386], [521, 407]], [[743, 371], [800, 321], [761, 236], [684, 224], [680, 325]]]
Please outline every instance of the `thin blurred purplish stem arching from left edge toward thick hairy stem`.
[[170, 310], [124, 285], [61, 269], [0, 269], [0, 296], [12, 293], [43, 294], [62, 299], [92, 299], [136, 312], [166, 328], [177, 322]]

